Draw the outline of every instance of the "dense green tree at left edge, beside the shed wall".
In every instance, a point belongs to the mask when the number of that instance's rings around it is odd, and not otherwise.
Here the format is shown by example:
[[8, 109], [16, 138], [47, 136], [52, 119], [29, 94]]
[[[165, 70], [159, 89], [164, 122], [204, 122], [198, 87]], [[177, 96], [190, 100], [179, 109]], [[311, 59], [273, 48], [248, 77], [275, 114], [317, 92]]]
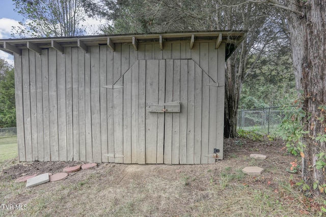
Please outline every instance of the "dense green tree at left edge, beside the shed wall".
[[9, 128], [16, 126], [16, 108], [15, 108], [15, 75], [14, 69], [7, 65], [5, 61], [0, 61], [0, 128]]

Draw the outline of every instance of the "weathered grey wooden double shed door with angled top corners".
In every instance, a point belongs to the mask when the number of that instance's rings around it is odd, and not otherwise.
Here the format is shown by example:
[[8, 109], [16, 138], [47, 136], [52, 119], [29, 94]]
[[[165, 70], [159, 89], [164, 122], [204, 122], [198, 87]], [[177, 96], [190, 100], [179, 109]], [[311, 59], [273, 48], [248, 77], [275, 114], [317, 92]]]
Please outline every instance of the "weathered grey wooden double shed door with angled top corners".
[[[115, 156], [123, 155], [123, 162], [122, 158], [109, 161], [138, 164], [215, 162], [207, 156], [214, 148], [223, 148], [222, 143], [216, 143], [216, 134], [223, 134], [216, 124], [218, 85], [194, 60], [138, 60], [116, 85], [123, 88], [111, 90], [114, 147], [110, 148], [113, 143], [109, 143], [108, 150], [114, 151]], [[224, 111], [220, 112], [223, 115]]]

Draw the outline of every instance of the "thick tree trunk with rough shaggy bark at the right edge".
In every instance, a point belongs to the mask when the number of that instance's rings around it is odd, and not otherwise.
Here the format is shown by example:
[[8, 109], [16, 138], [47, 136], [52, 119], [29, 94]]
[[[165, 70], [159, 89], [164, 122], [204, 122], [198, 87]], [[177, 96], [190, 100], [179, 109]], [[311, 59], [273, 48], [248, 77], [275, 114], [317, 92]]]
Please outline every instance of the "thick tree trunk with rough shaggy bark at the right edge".
[[[316, 162], [325, 158], [318, 153], [326, 153], [325, 142], [316, 140], [317, 136], [326, 133], [326, 111], [319, 106], [326, 106], [326, 2], [323, 0], [308, 0], [305, 5], [296, 1], [296, 10], [306, 14], [305, 18], [291, 13], [289, 25], [293, 52], [293, 65], [298, 89], [303, 90], [303, 109], [307, 113], [303, 119], [304, 130], [309, 136], [303, 138], [304, 156], [302, 158], [302, 176], [313, 190], [313, 183], [321, 187], [325, 184], [324, 169], [316, 169]], [[310, 118], [309, 118], [310, 117]], [[322, 191], [316, 189], [315, 194]]]

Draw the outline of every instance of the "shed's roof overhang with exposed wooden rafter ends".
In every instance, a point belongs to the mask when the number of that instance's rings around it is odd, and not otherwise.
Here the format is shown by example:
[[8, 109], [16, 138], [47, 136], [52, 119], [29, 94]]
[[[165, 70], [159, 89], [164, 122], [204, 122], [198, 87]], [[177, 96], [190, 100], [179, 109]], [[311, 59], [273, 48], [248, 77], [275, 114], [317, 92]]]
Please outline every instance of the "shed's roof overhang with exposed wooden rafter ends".
[[86, 52], [90, 46], [107, 45], [115, 51], [116, 43], [133, 45], [138, 50], [139, 44], [157, 43], [164, 49], [164, 43], [189, 42], [190, 49], [195, 42], [215, 42], [218, 49], [222, 42], [226, 45], [226, 59], [244, 39], [243, 31], [205, 31], [205, 32], [178, 32], [178, 33], [150, 33], [150, 34], [125, 34], [125, 35], [99, 35], [77, 37], [49, 37], [49, 38], [23, 38], [0, 39], [0, 50], [10, 54], [21, 55], [22, 49], [31, 49], [41, 53], [42, 49], [54, 48], [64, 53], [65, 47], [80, 47]]

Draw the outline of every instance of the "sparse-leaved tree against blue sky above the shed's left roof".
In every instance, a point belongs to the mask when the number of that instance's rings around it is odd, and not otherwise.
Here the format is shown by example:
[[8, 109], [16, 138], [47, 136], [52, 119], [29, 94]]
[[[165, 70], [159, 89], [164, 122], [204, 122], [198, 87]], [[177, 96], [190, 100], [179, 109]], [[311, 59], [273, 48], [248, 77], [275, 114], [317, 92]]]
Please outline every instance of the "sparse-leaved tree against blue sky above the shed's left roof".
[[85, 33], [80, 22], [85, 12], [82, 0], [13, 0], [14, 11], [24, 17], [19, 26], [13, 26], [12, 35], [19, 37], [67, 37]]

